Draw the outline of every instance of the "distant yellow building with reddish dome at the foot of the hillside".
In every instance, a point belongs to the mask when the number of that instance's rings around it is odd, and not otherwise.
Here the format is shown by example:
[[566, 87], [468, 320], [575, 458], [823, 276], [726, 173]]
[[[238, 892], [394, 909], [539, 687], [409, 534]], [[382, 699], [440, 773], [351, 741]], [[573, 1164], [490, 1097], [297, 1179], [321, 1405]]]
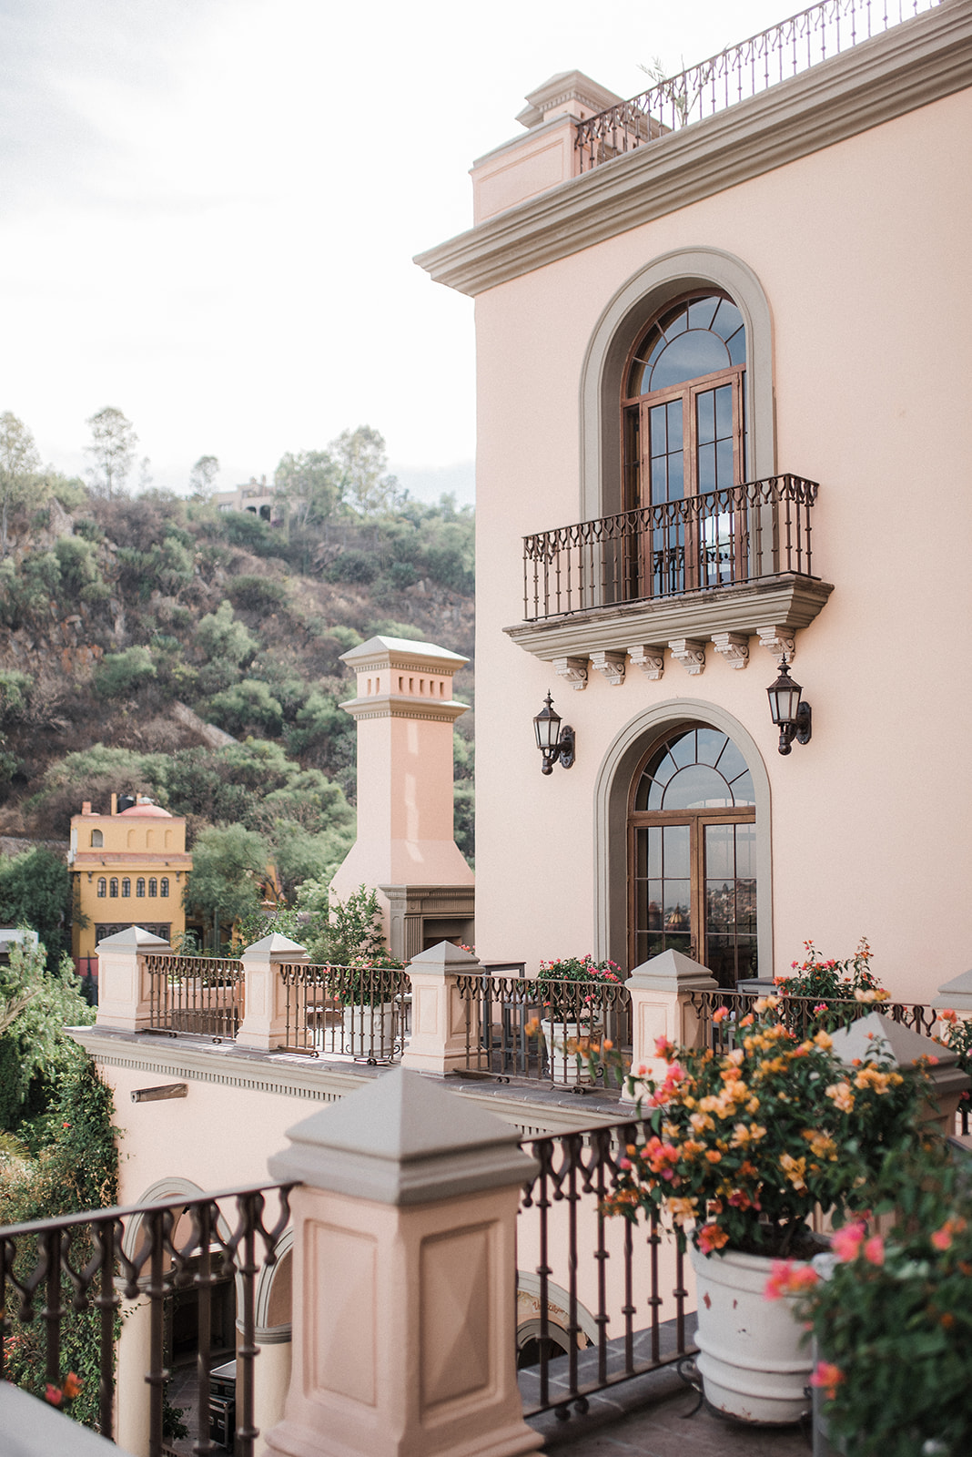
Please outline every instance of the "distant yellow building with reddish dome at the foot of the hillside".
[[68, 865], [79, 919], [87, 919], [74, 922], [74, 957], [95, 956], [103, 937], [130, 925], [169, 941], [185, 931], [182, 892], [192, 870], [186, 822], [141, 794], [121, 812], [112, 794], [111, 814], [93, 814], [86, 801], [71, 816]]

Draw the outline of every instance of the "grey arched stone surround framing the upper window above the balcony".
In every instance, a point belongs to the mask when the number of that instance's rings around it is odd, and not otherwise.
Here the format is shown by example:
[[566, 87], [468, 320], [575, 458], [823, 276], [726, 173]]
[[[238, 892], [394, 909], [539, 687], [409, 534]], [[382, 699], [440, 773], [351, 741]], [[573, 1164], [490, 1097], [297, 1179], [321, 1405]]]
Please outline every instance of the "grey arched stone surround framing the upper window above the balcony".
[[773, 319], [752, 270], [717, 248], [662, 254], [614, 294], [591, 337], [581, 369], [579, 519], [623, 510], [618, 401], [629, 351], [666, 303], [694, 288], [729, 294], [746, 326], [746, 421], [751, 479], [776, 474]]

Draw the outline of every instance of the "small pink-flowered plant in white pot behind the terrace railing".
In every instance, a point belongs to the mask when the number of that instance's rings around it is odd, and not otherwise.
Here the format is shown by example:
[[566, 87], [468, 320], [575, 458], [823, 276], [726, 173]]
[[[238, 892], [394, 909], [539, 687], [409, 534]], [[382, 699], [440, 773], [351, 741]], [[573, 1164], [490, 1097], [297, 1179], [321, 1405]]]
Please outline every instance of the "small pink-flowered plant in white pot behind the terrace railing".
[[607, 986], [621, 986], [618, 966], [586, 956], [541, 962], [537, 989], [543, 998], [547, 1068], [554, 1083], [589, 1083], [588, 1053], [604, 1034]]

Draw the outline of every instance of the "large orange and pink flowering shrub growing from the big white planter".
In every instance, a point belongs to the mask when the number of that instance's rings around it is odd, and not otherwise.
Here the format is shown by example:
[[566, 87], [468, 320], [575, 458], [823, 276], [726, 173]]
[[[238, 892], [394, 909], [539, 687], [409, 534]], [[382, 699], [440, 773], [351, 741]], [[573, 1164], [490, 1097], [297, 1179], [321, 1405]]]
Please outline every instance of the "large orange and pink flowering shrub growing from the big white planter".
[[799, 1254], [815, 1206], [863, 1206], [889, 1151], [915, 1136], [920, 1074], [845, 1068], [829, 1033], [799, 1042], [778, 1005], [757, 1001], [723, 1055], [658, 1039], [665, 1078], [630, 1080], [650, 1134], [629, 1145], [605, 1212], [656, 1209], [703, 1254]]

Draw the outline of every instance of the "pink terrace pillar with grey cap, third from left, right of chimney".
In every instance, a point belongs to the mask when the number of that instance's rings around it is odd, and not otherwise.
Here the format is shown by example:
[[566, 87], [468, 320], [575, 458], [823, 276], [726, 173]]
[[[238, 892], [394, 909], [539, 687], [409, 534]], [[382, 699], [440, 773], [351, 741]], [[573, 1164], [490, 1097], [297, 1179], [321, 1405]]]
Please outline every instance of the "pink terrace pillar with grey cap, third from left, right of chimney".
[[402, 1056], [403, 1068], [454, 1072], [467, 1065], [467, 1048], [476, 1055], [480, 1000], [463, 1000], [457, 976], [477, 970], [479, 957], [451, 941], [439, 941], [412, 957], [412, 1039]]

